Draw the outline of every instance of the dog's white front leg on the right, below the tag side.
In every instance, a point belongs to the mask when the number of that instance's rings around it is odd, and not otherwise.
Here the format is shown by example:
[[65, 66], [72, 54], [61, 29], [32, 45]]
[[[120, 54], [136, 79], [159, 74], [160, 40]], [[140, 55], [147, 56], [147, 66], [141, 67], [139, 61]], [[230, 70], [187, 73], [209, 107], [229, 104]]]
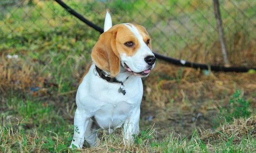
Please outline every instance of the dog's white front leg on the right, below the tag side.
[[134, 109], [130, 116], [125, 120], [123, 125], [124, 139], [126, 143], [131, 144], [134, 140], [134, 134], [137, 135], [140, 131], [140, 106]]

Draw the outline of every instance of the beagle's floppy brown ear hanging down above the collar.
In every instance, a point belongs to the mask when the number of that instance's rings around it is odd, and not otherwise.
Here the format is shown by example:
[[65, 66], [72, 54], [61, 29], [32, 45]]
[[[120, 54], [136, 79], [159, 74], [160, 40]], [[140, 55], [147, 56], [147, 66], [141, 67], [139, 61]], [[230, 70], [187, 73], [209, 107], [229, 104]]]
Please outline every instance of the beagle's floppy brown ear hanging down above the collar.
[[100, 69], [109, 71], [111, 77], [120, 72], [120, 57], [116, 49], [116, 30], [106, 31], [100, 35], [93, 47], [91, 58]]

